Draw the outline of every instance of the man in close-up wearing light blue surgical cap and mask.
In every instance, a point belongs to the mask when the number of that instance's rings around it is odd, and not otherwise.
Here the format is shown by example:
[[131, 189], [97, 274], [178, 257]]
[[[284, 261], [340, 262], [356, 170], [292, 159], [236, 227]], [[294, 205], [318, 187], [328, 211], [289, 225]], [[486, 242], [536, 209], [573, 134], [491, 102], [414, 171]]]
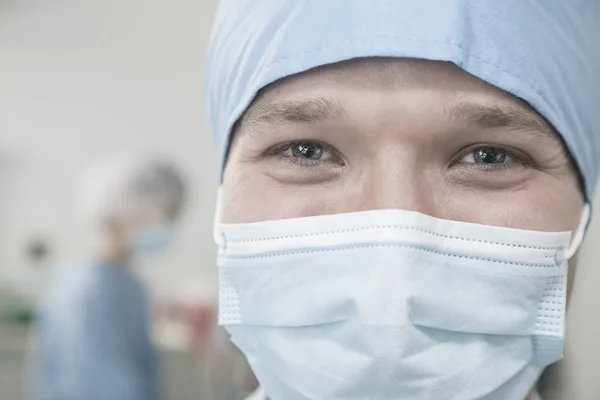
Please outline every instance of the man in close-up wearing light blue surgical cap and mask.
[[220, 323], [271, 400], [536, 399], [600, 161], [600, 3], [222, 0]]

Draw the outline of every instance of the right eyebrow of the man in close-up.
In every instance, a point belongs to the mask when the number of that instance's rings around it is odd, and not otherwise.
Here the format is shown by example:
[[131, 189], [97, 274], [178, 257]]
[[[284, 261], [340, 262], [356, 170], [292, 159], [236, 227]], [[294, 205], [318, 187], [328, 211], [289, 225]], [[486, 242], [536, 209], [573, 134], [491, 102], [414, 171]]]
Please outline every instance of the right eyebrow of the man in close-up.
[[481, 129], [528, 131], [544, 139], [561, 142], [558, 133], [544, 117], [525, 107], [460, 102], [450, 108], [449, 115], [457, 122], [466, 122]]

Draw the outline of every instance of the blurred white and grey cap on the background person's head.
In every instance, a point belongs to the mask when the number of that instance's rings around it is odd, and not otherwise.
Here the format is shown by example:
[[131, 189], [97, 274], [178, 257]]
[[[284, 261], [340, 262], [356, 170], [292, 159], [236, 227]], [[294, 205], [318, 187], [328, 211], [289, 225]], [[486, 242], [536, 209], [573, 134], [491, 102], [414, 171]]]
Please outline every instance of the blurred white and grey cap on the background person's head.
[[150, 157], [115, 157], [90, 165], [76, 190], [80, 217], [97, 226], [123, 222], [139, 212], [177, 212], [186, 197], [176, 166]]

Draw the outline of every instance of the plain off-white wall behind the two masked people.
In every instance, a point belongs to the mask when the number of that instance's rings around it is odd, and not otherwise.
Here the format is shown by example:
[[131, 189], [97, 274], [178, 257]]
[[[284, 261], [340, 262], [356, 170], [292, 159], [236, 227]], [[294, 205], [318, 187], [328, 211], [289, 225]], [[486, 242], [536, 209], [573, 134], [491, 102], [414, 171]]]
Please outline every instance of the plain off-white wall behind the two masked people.
[[[32, 234], [52, 237], [57, 259], [75, 256], [77, 172], [115, 148], [140, 148], [172, 154], [200, 189], [169, 267], [151, 273], [155, 283], [214, 288], [216, 158], [202, 86], [215, 3], [0, 0], [0, 281], [33, 279], [21, 254]], [[563, 370], [573, 400], [600, 398], [598, 243], [596, 221], [569, 315]]]

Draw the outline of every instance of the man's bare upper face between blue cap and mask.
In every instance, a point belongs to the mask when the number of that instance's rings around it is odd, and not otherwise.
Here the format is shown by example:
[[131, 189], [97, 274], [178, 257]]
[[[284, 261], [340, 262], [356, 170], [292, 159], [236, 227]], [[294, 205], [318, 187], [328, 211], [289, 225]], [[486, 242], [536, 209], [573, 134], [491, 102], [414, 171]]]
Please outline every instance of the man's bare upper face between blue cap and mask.
[[575, 230], [560, 139], [525, 102], [450, 63], [362, 59], [267, 87], [238, 124], [222, 222], [373, 209]]

